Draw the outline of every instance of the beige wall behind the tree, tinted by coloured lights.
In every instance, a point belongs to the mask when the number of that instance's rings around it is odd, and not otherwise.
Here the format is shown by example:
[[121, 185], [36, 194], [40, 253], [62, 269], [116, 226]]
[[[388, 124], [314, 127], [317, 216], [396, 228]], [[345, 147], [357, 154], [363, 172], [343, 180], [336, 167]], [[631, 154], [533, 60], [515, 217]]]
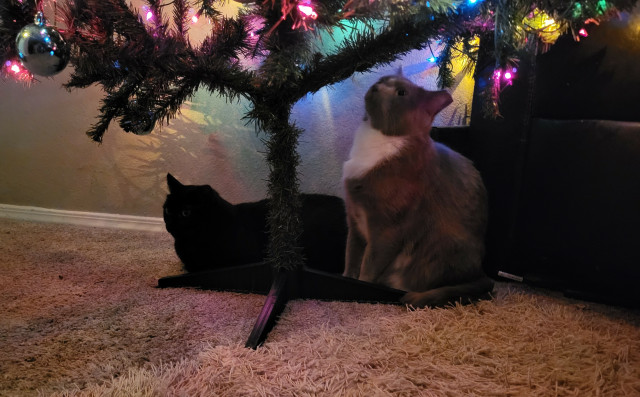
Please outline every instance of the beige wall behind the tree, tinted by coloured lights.
[[[342, 195], [341, 167], [363, 115], [365, 91], [399, 65], [414, 82], [435, 89], [427, 57], [412, 53], [295, 106], [293, 118], [305, 130], [299, 145], [303, 191]], [[184, 183], [210, 184], [234, 203], [265, 197], [265, 136], [244, 125], [246, 103], [227, 104], [199, 91], [169, 125], [136, 136], [114, 123], [98, 145], [85, 131], [95, 122], [102, 92], [65, 91], [69, 72], [30, 88], [0, 81], [0, 203], [161, 216], [167, 172]], [[454, 103], [437, 125], [462, 125], [471, 111], [472, 79], [459, 76], [451, 91]]]

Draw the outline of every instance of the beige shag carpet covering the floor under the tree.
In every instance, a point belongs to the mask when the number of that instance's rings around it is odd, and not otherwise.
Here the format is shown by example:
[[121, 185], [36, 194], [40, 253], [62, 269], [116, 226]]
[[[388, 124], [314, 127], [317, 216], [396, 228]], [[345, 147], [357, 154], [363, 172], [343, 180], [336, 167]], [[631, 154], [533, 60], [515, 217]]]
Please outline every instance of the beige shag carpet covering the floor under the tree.
[[640, 313], [498, 283], [437, 310], [158, 289], [166, 233], [0, 219], [1, 396], [638, 396]]

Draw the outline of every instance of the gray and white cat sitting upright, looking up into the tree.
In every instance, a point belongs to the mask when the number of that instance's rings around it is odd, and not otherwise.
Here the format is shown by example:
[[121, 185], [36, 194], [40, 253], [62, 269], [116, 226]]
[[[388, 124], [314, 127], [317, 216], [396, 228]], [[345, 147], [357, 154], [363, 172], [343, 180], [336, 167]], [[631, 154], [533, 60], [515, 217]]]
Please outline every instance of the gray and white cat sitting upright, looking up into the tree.
[[408, 291], [413, 307], [488, 296], [482, 269], [487, 196], [470, 160], [433, 141], [431, 124], [452, 102], [401, 75], [365, 95], [366, 116], [343, 166], [344, 276]]

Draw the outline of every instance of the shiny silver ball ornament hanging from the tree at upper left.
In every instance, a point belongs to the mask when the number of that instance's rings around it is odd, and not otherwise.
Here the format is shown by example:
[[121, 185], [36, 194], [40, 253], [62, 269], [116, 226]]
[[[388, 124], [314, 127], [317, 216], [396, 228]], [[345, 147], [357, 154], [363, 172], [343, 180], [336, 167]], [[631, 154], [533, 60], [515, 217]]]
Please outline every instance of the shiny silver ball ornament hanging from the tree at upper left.
[[40, 11], [34, 23], [18, 33], [16, 50], [22, 66], [39, 76], [53, 76], [62, 71], [69, 63], [71, 54], [71, 48], [60, 32], [53, 26], [47, 26]]

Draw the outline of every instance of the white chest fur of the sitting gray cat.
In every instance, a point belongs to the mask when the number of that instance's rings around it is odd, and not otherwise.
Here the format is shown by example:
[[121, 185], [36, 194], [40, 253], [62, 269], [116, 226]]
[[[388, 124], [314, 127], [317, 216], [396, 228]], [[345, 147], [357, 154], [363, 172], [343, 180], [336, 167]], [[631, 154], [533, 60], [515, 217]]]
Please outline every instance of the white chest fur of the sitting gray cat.
[[395, 156], [405, 145], [402, 136], [387, 136], [364, 121], [356, 131], [349, 160], [342, 166], [342, 179], [359, 178], [382, 161]]

